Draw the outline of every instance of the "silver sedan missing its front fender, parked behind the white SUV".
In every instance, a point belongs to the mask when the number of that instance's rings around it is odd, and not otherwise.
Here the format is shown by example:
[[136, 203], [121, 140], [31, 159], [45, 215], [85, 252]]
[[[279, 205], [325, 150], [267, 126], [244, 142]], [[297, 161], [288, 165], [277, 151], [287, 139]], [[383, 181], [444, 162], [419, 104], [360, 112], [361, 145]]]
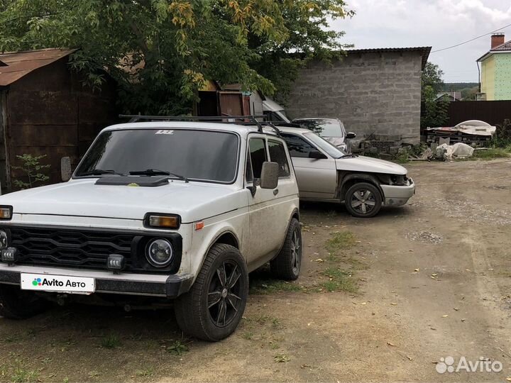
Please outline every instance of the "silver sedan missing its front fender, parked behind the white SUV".
[[304, 201], [342, 202], [352, 216], [373, 217], [381, 206], [401, 206], [415, 192], [405, 167], [346, 154], [302, 128], [280, 127]]

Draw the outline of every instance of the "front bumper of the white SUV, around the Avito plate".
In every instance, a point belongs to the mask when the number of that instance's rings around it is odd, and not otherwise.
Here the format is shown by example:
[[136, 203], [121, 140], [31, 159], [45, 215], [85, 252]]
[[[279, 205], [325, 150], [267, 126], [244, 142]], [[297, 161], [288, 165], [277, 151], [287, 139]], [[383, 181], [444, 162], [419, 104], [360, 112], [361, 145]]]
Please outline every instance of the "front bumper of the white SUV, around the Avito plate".
[[176, 298], [184, 294], [192, 287], [193, 282], [193, 277], [190, 274], [170, 276], [131, 273], [113, 274], [106, 271], [41, 266], [9, 266], [0, 263], [0, 283], [17, 284], [19, 286], [22, 272], [67, 277], [91, 277], [95, 280], [95, 292], [98, 293], [164, 296], [166, 298]]

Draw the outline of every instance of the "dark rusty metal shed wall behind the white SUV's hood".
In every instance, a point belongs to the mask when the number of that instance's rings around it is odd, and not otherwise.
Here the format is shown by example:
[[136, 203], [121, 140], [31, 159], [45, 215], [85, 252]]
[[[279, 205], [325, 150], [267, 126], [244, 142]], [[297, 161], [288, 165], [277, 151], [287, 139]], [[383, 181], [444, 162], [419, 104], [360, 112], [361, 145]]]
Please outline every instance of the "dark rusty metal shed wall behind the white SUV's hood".
[[[77, 164], [101, 128], [117, 121], [111, 82], [92, 91], [72, 74], [67, 57], [34, 70], [9, 87], [6, 143], [11, 180], [23, 179], [17, 155], [46, 155], [48, 183], [60, 182], [60, 159]], [[9, 179], [7, 180], [9, 187]]]

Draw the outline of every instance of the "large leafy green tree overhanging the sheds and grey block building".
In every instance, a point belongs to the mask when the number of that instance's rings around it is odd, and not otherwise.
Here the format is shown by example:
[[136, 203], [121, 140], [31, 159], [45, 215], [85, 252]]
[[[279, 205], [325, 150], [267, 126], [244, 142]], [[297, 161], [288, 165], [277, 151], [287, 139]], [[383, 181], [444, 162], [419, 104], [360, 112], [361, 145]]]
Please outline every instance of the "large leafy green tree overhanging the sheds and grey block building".
[[189, 113], [213, 79], [285, 93], [310, 57], [328, 59], [352, 16], [342, 0], [0, 0], [0, 51], [79, 48], [73, 69], [108, 72], [127, 113]]

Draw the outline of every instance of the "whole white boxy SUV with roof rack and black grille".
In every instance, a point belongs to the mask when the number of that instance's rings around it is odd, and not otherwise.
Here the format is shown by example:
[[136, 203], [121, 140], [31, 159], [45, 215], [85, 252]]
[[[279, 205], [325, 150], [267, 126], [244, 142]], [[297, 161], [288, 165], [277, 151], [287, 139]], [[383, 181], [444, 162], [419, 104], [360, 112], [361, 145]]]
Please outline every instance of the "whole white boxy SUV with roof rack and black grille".
[[1, 196], [0, 218], [6, 318], [75, 294], [172, 299], [185, 333], [220, 340], [241, 320], [248, 272], [300, 272], [295, 173], [285, 142], [260, 125], [110, 126], [69, 182]]

